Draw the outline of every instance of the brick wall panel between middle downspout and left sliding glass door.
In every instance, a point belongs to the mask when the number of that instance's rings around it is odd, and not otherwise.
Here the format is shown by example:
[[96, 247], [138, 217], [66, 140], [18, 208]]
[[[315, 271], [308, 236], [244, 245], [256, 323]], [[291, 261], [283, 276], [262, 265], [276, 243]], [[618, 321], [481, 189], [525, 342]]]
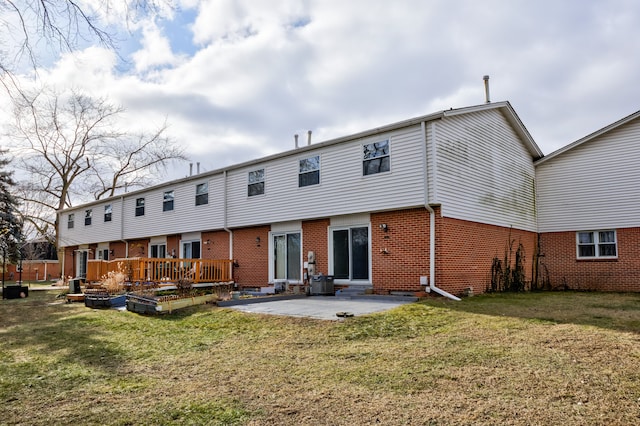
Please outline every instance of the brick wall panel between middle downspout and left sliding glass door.
[[[233, 277], [239, 287], [262, 287], [269, 283], [269, 226], [233, 231], [233, 257], [238, 267]], [[256, 238], [260, 237], [260, 243]]]

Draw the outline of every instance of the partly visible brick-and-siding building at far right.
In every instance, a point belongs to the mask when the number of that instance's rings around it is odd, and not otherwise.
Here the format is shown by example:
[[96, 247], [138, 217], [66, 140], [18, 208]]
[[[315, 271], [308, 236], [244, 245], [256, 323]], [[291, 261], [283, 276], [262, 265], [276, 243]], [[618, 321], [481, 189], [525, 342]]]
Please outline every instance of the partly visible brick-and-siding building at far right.
[[540, 273], [552, 287], [640, 291], [640, 111], [535, 163]]

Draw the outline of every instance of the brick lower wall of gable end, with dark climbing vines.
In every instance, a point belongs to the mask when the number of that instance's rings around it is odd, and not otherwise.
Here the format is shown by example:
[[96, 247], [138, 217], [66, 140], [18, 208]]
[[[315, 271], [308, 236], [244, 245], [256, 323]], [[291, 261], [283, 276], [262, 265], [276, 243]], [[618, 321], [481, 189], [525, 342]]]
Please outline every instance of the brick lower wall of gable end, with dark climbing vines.
[[[519, 244], [524, 247], [527, 283], [533, 275], [537, 234], [513, 228], [436, 216], [436, 286], [460, 295], [468, 287], [478, 294], [491, 282], [493, 259], [515, 262]], [[509, 243], [512, 243], [511, 255]]]

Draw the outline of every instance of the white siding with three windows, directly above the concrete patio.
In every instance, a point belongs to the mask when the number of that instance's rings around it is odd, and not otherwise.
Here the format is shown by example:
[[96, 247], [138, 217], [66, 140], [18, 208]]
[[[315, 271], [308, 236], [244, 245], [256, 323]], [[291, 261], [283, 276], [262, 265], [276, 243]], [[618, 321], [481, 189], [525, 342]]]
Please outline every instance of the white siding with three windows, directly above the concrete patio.
[[[363, 176], [362, 146], [389, 139], [391, 170]], [[420, 126], [292, 152], [228, 172], [228, 226], [392, 210], [424, 204], [424, 149]], [[320, 184], [299, 188], [299, 161], [320, 156]], [[248, 173], [265, 169], [263, 195], [247, 195]]]

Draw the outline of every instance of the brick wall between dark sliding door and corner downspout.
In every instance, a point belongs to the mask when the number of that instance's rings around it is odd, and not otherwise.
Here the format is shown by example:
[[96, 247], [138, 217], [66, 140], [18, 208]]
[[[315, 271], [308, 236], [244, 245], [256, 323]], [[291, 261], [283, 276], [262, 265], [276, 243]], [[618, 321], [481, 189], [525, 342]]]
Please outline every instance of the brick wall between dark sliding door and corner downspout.
[[429, 212], [371, 214], [371, 264], [374, 292], [420, 291], [420, 276], [429, 275]]

